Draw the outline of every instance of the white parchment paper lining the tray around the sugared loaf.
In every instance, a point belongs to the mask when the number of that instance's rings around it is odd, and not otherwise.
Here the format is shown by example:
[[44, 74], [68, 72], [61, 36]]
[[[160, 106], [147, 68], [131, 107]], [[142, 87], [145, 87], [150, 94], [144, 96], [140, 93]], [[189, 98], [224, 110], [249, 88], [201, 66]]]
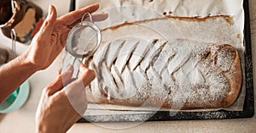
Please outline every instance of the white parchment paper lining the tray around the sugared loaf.
[[[238, 50], [241, 58], [242, 74], [245, 77], [243, 54], [245, 48], [243, 45], [244, 11], [242, 0], [88, 0], [79, 1], [76, 7], [82, 8], [92, 3], [100, 3], [101, 8], [98, 12], [105, 12], [109, 15], [108, 20], [96, 23], [102, 29], [101, 47], [122, 36], [140, 36], [143, 39], [159, 38], [167, 40], [183, 38], [198, 42], [227, 43], [233, 45]], [[226, 19], [198, 23], [197, 21], [187, 21], [186, 19], [174, 17], [205, 18], [219, 15], [232, 16], [234, 25], [230, 25], [230, 22]], [[124, 25], [125, 23], [132, 25]], [[206, 27], [212, 27], [212, 30], [207, 30]], [[209, 36], [206, 37], [205, 34]], [[241, 92], [236, 103], [224, 109], [241, 111], [245, 91], [245, 78], [243, 78]], [[218, 109], [220, 108], [185, 111]], [[151, 108], [89, 104], [86, 115], [126, 114], [127, 110], [137, 111], [129, 112], [129, 114], [142, 114], [150, 112]], [[169, 111], [166, 108], [161, 108], [160, 110]]]

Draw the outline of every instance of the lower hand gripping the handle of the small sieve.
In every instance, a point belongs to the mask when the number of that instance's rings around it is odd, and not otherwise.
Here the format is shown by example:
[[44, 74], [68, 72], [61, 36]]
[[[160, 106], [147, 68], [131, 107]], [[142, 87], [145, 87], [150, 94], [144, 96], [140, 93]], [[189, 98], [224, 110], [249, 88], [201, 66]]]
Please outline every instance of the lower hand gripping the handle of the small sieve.
[[[93, 70], [80, 67], [78, 80], [71, 79], [73, 67], [44, 88], [36, 114], [38, 132], [66, 132], [84, 114], [87, 108], [85, 86], [95, 78]], [[67, 86], [63, 86], [73, 81]]]

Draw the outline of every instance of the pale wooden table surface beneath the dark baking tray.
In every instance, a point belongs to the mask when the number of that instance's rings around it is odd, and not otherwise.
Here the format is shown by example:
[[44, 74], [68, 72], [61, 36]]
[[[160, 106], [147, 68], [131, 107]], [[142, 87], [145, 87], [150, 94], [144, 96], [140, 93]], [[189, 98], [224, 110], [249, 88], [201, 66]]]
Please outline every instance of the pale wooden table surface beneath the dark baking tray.
[[[251, 30], [252, 30], [252, 50], [253, 50], [253, 82], [254, 88], [256, 83], [256, 1], [249, 0], [250, 2], [250, 17], [251, 17]], [[56, 61], [54, 64], [59, 64]], [[45, 71], [38, 72], [32, 75], [31, 86], [47, 86], [51, 80], [47, 78], [49, 73], [57, 75], [57, 69], [49, 67]], [[44, 79], [36, 78], [38, 75], [44, 75]], [[45, 80], [44, 83], [40, 80]], [[34, 83], [37, 84], [34, 84]], [[254, 89], [255, 90], [255, 89]], [[26, 106], [20, 108], [19, 111], [15, 111], [10, 114], [0, 114], [0, 132], [34, 132], [34, 115], [37, 108], [37, 104], [32, 101], [38, 101], [40, 91], [32, 90], [32, 95], [29, 97]], [[255, 90], [256, 91], [256, 90]], [[32, 100], [31, 100], [32, 99]], [[254, 101], [256, 103], [256, 95], [254, 92]], [[254, 105], [256, 107], [256, 105]], [[124, 123], [112, 123], [106, 125], [125, 125]], [[100, 126], [84, 123], [75, 124], [68, 132], [99, 132], [99, 133], [126, 133], [126, 132], [256, 132], [256, 116], [250, 119], [222, 119], [222, 120], [194, 120], [194, 121], [167, 121], [167, 122], [145, 122], [136, 127], [122, 129], [122, 130], [110, 130], [102, 128]]]

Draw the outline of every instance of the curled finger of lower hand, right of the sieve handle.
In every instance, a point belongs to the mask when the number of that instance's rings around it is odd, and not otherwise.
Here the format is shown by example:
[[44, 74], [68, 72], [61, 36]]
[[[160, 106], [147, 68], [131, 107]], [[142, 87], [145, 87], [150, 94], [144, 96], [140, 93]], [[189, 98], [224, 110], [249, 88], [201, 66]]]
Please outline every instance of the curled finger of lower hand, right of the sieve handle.
[[80, 73], [82, 75], [81, 80], [83, 81], [84, 86], [87, 86], [88, 84], [90, 84], [90, 82], [92, 80], [94, 80], [95, 77], [96, 77], [96, 74], [95, 74], [94, 70], [85, 68], [84, 64], [80, 65], [79, 70], [80, 70]]

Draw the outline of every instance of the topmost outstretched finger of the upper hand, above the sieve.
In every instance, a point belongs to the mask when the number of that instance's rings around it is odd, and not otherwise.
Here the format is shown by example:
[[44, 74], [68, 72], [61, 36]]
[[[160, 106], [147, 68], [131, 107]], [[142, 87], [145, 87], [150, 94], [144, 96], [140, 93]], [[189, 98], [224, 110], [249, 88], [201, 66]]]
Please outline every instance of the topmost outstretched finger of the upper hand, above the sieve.
[[78, 19], [81, 19], [84, 13], [88, 12], [91, 14], [95, 12], [98, 8], [99, 8], [99, 4], [93, 4], [93, 5], [90, 5], [89, 7], [81, 8], [69, 14], [65, 14], [61, 16], [58, 19], [58, 21], [62, 25], [72, 25], [75, 21], [77, 21]]

